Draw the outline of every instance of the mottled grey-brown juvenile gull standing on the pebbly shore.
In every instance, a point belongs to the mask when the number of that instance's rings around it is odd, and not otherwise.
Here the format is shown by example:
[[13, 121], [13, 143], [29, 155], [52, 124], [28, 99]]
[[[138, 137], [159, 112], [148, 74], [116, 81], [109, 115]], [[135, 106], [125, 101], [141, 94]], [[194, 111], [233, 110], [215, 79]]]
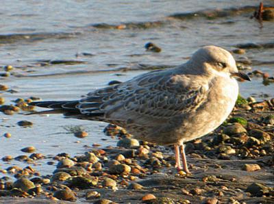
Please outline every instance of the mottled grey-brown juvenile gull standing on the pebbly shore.
[[188, 173], [184, 142], [210, 133], [229, 116], [238, 96], [234, 77], [250, 81], [238, 72], [228, 51], [206, 46], [176, 68], [138, 75], [76, 101], [38, 101], [30, 105], [51, 108], [38, 113], [105, 121], [124, 127], [139, 140], [174, 144], [175, 166]]

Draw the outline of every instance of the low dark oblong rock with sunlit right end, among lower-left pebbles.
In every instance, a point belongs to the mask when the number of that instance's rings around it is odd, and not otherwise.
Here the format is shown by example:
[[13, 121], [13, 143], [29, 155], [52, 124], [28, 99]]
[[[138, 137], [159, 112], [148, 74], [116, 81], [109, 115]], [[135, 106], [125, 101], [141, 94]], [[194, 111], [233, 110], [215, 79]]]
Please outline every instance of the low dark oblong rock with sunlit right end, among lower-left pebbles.
[[66, 180], [67, 186], [71, 188], [88, 189], [96, 186], [98, 183], [97, 177], [71, 177]]

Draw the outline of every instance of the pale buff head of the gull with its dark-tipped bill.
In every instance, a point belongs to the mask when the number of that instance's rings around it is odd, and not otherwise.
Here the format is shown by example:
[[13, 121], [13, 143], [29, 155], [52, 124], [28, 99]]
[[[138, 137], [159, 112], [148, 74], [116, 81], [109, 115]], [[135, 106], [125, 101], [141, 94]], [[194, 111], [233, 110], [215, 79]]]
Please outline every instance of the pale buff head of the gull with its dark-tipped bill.
[[238, 71], [236, 62], [231, 53], [213, 45], [202, 47], [189, 60], [192, 68], [203, 74], [220, 73], [229, 77], [237, 76], [245, 80], [249, 77]]

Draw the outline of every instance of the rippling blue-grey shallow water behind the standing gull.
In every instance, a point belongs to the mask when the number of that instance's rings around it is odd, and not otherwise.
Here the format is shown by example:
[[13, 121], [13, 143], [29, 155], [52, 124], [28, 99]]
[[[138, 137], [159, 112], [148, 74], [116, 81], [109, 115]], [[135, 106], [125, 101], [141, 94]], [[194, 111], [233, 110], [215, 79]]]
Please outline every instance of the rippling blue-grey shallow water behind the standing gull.
[[[264, 5], [268, 3], [271, 5], [271, 1]], [[2, 96], [7, 104], [30, 96], [77, 99], [113, 79], [125, 81], [152, 66], [182, 64], [206, 44], [228, 50], [240, 44], [260, 44], [261, 48], [246, 49], [245, 55], [235, 57], [247, 57], [254, 62], [253, 70], [273, 76], [274, 24], [260, 25], [249, 18], [257, 5], [256, 1], [1, 1], [0, 65], [15, 68], [0, 84], [18, 91], [3, 92]], [[162, 52], [146, 52], [147, 42], [157, 44]], [[56, 60], [70, 60], [71, 64]], [[272, 98], [273, 90], [273, 84], [264, 86], [260, 77], [240, 84], [244, 97]], [[105, 123], [64, 120], [55, 115], [0, 113], [0, 119], [0, 136], [12, 133], [12, 138], [0, 137], [0, 157], [23, 155], [20, 149], [30, 145], [51, 157], [61, 152], [82, 153], [84, 145], [92, 143], [116, 144], [103, 135]], [[18, 127], [19, 120], [31, 120], [34, 126]], [[89, 136], [75, 138], [64, 129], [71, 125], [81, 125]], [[54, 166], [45, 165], [48, 160], [38, 161], [34, 168], [42, 174], [51, 173]], [[11, 164], [28, 165], [12, 160], [9, 164], [0, 162], [0, 168]]]

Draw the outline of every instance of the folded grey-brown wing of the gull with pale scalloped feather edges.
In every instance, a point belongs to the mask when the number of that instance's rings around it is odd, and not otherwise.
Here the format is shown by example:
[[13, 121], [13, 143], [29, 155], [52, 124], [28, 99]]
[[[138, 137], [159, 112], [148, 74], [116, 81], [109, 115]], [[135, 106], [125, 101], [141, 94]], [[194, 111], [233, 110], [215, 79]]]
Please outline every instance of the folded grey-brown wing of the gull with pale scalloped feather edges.
[[134, 121], [142, 125], [151, 118], [166, 119], [197, 109], [206, 98], [207, 84], [198, 76], [158, 71], [140, 75], [116, 86], [90, 92], [77, 108], [82, 114], [103, 120]]

